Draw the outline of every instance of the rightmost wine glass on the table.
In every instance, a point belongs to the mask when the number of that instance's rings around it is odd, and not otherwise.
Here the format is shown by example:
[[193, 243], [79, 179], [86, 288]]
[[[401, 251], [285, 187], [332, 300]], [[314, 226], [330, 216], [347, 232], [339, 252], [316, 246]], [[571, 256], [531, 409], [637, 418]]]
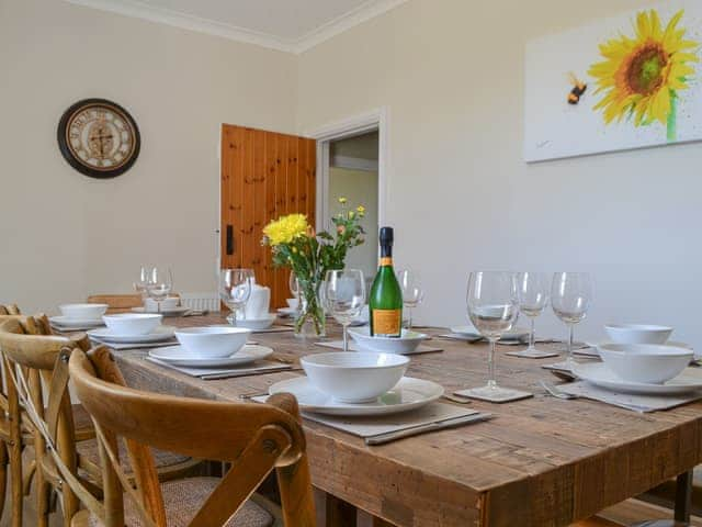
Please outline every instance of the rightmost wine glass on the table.
[[573, 329], [582, 321], [592, 302], [592, 278], [587, 272], [556, 272], [551, 284], [551, 306], [553, 312], [569, 329], [568, 358], [566, 365], [573, 367]]

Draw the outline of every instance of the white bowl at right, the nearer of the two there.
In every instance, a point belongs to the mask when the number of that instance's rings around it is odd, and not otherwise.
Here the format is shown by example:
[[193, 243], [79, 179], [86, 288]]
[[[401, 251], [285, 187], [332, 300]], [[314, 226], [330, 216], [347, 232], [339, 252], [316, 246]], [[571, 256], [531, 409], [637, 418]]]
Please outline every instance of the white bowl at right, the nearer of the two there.
[[659, 344], [603, 344], [597, 347], [607, 367], [625, 381], [660, 384], [679, 375], [693, 351]]

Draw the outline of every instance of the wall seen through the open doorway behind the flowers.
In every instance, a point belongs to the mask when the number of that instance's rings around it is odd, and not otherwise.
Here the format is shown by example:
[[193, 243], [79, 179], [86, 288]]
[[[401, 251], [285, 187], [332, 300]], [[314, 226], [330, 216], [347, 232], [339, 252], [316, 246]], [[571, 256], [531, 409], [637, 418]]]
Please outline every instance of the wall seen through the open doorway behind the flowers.
[[365, 243], [349, 251], [347, 267], [361, 269], [366, 278], [375, 276], [377, 268], [377, 172], [329, 168], [329, 210], [331, 214], [341, 211], [338, 198], [348, 200], [347, 208], [365, 208], [361, 225], [366, 232]]

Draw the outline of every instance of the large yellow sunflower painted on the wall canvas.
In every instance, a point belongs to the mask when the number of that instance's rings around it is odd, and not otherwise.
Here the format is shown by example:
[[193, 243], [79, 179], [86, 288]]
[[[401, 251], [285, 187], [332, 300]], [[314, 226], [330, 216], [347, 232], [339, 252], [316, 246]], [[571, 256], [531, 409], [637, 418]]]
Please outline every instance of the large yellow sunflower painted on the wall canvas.
[[687, 31], [678, 27], [682, 14], [664, 30], [655, 10], [642, 11], [634, 37], [621, 34], [600, 45], [604, 60], [592, 65], [589, 75], [597, 80], [595, 93], [603, 93], [595, 110], [602, 110], [607, 124], [623, 117], [633, 117], [635, 126], [658, 121], [675, 139], [677, 92], [689, 88], [694, 74], [690, 63], [699, 60], [698, 43], [686, 40]]

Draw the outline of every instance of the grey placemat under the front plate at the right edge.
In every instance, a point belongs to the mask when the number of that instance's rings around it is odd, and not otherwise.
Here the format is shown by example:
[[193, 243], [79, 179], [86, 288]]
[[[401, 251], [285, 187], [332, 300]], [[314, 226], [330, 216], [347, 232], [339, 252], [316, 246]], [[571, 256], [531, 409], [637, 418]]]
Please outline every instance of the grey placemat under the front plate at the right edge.
[[642, 395], [614, 392], [596, 386], [586, 381], [576, 381], [568, 384], [559, 384], [558, 390], [578, 397], [592, 399], [601, 403], [611, 404], [634, 412], [657, 412], [670, 410], [676, 406], [692, 403], [702, 399], [702, 392], [681, 393], [677, 395]]

